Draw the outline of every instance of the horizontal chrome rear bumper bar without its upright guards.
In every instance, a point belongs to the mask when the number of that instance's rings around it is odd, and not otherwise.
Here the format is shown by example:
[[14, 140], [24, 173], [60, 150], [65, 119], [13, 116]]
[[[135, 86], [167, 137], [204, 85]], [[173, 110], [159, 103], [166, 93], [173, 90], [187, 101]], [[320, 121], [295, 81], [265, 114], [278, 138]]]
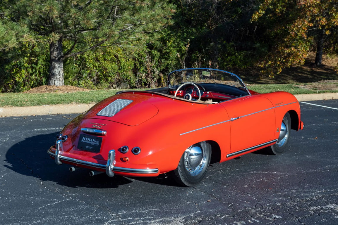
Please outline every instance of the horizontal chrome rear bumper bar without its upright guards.
[[[52, 153], [51, 151], [47, 151], [47, 153], [52, 156], [55, 157], [54, 153]], [[98, 164], [98, 163], [92, 163], [92, 162], [87, 162], [87, 161], [83, 161], [83, 160], [78, 160], [78, 159], [73, 159], [73, 158], [69, 158], [66, 156], [60, 156], [61, 160], [67, 161], [67, 162], [71, 162], [71, 163], [77, 163], [80, 165], [84, 165], [84, 166], [91, 166], [94, 168], [99, 168], [99, 169], [105, 169], [106, 165], [102, 165], [102, 164]], [[133, 168], [124, 168], [124, 167], [116, 167], [114, 166], [113, 171], [116, 172], [122, 172], [122, 173], [140, 173], [140, 174], [149, 174], [149, 173], [158, 173], [159, 169], [133, 169]]]

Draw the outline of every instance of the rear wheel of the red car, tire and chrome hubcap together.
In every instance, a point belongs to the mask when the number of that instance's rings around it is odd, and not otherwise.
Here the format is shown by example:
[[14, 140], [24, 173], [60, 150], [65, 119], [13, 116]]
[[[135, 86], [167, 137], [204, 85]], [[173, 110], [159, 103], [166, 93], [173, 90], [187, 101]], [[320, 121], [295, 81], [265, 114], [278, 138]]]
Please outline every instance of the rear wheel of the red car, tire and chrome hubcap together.
[[186, 187], [198, 184], [208, 171], [210, 159], [210, 143], [201, 141], [191, 145], [184, 151], [177, 168], [173, 171], [174, 179]]

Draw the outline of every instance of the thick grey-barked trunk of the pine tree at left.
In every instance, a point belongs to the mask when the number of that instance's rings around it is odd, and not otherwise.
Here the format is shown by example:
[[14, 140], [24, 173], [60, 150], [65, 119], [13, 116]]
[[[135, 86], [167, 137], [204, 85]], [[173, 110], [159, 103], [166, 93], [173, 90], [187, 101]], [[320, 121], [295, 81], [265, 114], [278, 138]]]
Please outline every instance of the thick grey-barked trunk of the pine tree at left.
[[60, 38], [56, 43], [49, 45], [49, 76], [48, 85], [62, 86], [64, 85], [63, 74], [63, 56], [62, 52], [62, 39]]

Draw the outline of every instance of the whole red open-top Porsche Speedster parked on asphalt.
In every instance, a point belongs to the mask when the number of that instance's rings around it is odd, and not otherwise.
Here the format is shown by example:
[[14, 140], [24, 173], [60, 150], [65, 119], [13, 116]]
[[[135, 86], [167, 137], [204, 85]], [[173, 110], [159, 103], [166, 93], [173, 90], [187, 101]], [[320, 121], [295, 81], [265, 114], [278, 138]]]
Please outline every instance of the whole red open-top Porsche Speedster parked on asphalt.
[[279, 154], [291, 129], [303, 129], [292, 94], [251, 91], [237, 75], [218, 69], [179, 69], [168, 75], [167, 87], [120, 91], [80, 114], [48, 154], [71, 171], [85, 167], [110, 177], [170, 172], [179, 184], [193, 186], [211, 154], [219, 162], [268, 146]]

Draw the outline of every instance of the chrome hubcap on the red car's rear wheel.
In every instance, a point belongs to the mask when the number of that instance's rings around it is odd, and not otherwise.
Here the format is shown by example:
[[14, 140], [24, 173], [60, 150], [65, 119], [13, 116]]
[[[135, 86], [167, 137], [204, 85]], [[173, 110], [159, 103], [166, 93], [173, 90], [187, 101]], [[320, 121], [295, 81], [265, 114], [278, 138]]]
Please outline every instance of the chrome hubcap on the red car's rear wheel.
[[184, 166], [192, 176], [198, 175], [206, 165], [206, 147], [206, 142], [202, 141], [191, 145], [184, 152]]

